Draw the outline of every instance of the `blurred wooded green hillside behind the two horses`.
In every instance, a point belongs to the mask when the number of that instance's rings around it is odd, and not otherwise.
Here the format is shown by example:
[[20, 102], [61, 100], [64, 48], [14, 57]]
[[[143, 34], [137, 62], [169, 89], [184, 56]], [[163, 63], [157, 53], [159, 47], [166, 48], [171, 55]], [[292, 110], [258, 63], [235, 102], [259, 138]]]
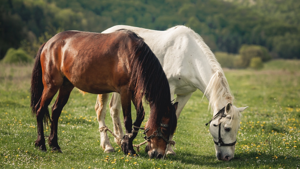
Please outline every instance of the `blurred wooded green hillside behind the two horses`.
[[0, 59], [9, 48], [33, 56], [64, 30], [102, 32], [118, 24], [186, 25], [213, 51], [238, 53], [255, 44], [272, 57], [300, 58], [299, 10], [299, 0], [1, 0]]

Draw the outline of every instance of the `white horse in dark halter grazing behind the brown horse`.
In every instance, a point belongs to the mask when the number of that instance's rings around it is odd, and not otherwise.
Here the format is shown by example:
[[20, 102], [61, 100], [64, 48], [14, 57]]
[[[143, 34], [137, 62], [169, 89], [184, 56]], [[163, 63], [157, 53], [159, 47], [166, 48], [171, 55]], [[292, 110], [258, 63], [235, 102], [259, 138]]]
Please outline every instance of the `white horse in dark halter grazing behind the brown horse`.
[[[175, 26], [165, 31], [156, 31], [132, 26], [117, 25], [102, 33], [110, 33], [118, 29], [130, 29], [144, 38], [154, 54], [158, 57], [167, 75], [172, 100], [174, 94], [179, 102], [176, 111], [177, 119], [194, 91], [199, 89], [209, 100], [213, 118], [209, 130], [214, 138], [216, 156], [219, 160], [229, 160], [234, 157], [235, 138], [240, 127], [240, 112], [247, 107], [231, 106], [233, 95], [224, 76], [220, 64], [203, 39], [186, 26]], [[95, 110], [99, 128], [105, 126], [106, 105], [109, 94], [99, 94]], [[231, 103], [231, 104], [230, 104]], [[113, 93], [110, 100], [110, 114], [113, 118], [114, 133], [122, 138], [124, 132], [120, 121], [120, 94]], [[226, 108], [225, 108], [226, 106]], [[223, 112], [219, 112], [224, 108]], [[219, 115], [224, 118], [218, 120]], [[225, 118], [225, 116], [227, 116]], [[219, 127], [216, 127], [220, 124]], [[219, 135], [220, 138], [219, 139]], [[220, 141], [221, 140], [221, 141]], [[115, 139], [118, 142], [117, 139]], [[231, 144], [229, 144], [231, 143]], [[104, 152], [113, 152], [107, 134], [101, 132], [101, 146]], [[176, 155], [171, 146], [167, 154]]]

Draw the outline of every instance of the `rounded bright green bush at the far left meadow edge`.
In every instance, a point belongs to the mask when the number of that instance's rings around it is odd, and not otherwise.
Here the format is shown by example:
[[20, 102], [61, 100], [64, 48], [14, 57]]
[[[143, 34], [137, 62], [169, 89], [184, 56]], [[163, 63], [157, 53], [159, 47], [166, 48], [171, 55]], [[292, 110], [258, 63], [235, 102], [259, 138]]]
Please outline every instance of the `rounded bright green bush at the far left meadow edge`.
[[2, 59], [3, 63], [31, 63], [33, 58], [22, 49], [9, 48]]

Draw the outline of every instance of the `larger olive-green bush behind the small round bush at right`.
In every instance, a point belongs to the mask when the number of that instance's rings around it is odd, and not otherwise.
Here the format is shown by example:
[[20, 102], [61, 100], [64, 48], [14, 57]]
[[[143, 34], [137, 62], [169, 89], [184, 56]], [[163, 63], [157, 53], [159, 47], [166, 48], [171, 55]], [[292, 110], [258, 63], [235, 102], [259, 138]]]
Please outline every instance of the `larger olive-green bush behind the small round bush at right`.
[[260, 45], [242, 45], [239, 54], [241, 56], [242, 67], [248, 67], [253, 57], [261, 58], [262, 62], [271, 60], [268, 49]]

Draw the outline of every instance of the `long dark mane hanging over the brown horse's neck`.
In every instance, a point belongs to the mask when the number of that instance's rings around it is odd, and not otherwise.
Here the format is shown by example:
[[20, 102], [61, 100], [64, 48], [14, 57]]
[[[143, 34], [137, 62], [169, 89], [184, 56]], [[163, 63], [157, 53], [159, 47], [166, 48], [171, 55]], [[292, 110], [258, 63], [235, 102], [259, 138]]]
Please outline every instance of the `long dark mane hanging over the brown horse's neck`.
[[175, 108], [171, 103], [169, 82], [161, 63], [143, 38], [132, 30], [119, 30], [128, 31], [137, 40], [136, 51], [130, 58], [131, 78], [129, 83], [134, 88], [136, 107], [141, 107], [143, 97], [145, 97], [151, 109], [148, 125], [151, 128], [158, 128], [158, 123], [162, 118], [168, 117], [172, 136], [176, 130], [177, 118]]

